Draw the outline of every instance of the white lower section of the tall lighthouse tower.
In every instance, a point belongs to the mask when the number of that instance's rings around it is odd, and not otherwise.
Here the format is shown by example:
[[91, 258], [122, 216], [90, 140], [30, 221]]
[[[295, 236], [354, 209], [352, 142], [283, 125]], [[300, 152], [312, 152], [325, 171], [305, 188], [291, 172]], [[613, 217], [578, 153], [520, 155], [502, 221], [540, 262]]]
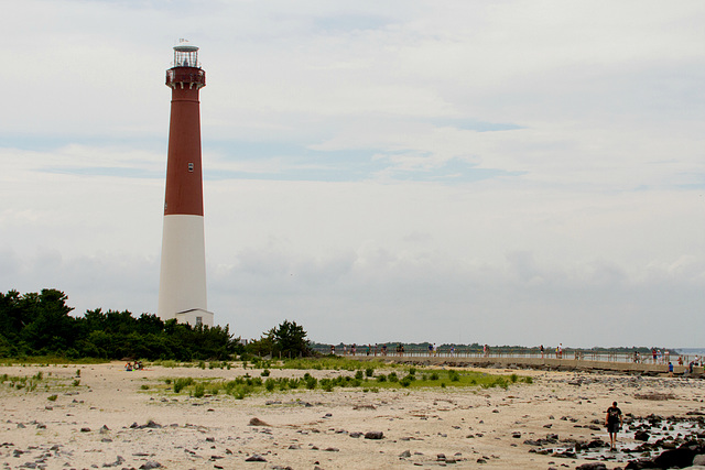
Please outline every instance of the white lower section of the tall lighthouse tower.
[[164, 216], [159, 317], [213, 326], [206, 305], [206, 252], [203, 216]]

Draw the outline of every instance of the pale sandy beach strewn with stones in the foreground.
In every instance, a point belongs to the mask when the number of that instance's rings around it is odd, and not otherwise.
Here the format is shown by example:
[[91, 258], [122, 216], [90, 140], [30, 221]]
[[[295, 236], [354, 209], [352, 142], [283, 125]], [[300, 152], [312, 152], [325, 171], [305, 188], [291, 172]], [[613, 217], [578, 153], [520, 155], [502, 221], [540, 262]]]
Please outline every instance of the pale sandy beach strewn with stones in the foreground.
[[[565, 440], [608, 441], [603, 422], [612, 401], [634, 417], [705, 412], [704, 381], [665, 376], [484, 370], [531, 376], [533, 383], [507, 390], [301, 389], [235, 400], [175, 394], [164, 389], [164, 379], [231, 380], [259, 376], [260, 370], [127, 372], [118, 362], [0, 368], [8, 376], [39, 372], [43, 380], [34, 391], [9, 382], [0, 386], [3, 468], [576, 468], [595, 460], [536, 452], [545, 446], [531, 441], [550, 436], [556, 448]], [[272, 369], [271, 374], [305, 372]], [[307, 372], [318, 378], [345, 373]], [[632, 437], [620, 434], [620, 446], [633, 445]], [[626, 466], [599, 461], [610, 469]]]

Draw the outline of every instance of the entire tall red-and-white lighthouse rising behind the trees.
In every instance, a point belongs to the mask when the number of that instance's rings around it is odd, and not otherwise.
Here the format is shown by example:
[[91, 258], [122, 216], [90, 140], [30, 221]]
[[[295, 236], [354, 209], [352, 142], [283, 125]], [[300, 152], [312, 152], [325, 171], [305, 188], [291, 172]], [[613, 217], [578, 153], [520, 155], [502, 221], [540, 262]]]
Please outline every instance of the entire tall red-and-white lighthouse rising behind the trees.
[[198, 101], [206, 73], [198, 62], [198, 47], [185, 40], [174, 46], [166, 86], [172, 89], [172, 107], [158, 313], [163, 321], [213, 326], [206, 303]]

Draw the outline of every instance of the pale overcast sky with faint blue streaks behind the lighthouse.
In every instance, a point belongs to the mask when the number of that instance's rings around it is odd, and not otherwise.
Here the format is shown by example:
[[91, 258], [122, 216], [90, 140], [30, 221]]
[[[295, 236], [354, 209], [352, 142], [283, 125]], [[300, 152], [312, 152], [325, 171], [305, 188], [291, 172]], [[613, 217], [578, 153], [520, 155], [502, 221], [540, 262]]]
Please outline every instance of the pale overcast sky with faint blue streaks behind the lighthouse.
[[242, 338], [703, 347], [705, 2], [9, 2], [0, 291], [156, 313], [180, 37]]

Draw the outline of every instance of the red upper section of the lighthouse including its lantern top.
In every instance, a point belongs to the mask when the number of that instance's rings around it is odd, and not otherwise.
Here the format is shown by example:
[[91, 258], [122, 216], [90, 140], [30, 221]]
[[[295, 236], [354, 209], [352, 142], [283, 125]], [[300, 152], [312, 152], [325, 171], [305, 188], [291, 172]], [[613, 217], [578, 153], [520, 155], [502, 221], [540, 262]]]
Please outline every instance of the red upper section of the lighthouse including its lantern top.
[[166, 85], [172, 88], [172, 112], [164, 215], [203, 216], [198, 90], [206, 86], [206, 73], [198, 64], [198, 47], [175, 46], [174, 65], [166, 70]]

